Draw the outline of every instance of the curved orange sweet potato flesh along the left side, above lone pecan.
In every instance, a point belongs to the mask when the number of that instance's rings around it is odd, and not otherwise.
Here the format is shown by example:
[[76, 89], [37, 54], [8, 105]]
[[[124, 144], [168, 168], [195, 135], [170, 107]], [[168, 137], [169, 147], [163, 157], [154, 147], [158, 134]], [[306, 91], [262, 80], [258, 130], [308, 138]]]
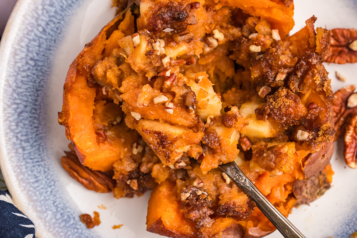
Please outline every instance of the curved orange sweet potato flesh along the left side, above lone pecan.
[[[97, 89], [87, 83], [92, 67], [102, 59], [102, 52], [106, 54], [110, 48], [118, 47], [116, 42], [134, 30], [131, 12], [126, 11], [124, 20], [123, 17], [118, 15], [106, 25], [72, 62], [64, 85], [62, 112], [59, 113], [59, 122], [66, 127], [66, 136], [80, 162], [99, 171], [109, 171], [115, 161], [129, 156], [132, 143], [139, 137], [126, 126], [119, 125], [112, 130], [116, 137], [114, 140], [97, 142], [93, 119]], [[113, 28], [118, 27], [119, 30], [112, 34]], [[119, 111], [106, 113], [115, 118]]]

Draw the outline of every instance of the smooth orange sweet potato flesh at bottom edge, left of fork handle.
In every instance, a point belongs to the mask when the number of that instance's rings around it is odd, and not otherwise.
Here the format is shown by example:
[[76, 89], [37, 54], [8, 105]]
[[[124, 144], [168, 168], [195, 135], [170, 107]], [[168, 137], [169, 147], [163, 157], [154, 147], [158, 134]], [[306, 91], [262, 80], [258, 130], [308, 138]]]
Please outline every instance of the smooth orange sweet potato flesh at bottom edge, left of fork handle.
[[[197, 229], [185, 220], [177, 201], [175, 183], [165, 181], [151, 193], [146, 217], [147, 231], [172, 238], [198, 238]], [[235, 219], [217, 217], [210, 228], [201, 228], [205, 238], [226, 237], [262, 237], [272, 232], [262, 231], [257, 227], [246, 228]]]

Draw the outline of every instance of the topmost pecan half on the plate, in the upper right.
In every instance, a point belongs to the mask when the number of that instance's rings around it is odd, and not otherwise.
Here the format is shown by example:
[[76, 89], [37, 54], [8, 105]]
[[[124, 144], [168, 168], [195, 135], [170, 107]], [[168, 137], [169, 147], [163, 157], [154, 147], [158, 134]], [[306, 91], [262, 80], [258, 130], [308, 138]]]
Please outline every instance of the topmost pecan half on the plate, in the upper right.
[[357, 62], [357, 30], [336, 28], [330, 34], [330, 48], [325, 61], [337, 64]]

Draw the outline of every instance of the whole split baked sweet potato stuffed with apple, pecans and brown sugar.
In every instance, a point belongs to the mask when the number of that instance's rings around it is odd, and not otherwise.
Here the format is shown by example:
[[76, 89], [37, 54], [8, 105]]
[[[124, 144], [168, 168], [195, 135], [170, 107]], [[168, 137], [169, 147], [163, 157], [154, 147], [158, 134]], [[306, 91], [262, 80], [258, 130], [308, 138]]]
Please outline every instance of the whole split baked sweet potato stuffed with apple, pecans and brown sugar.
[[[132, 5], [72, 63], [59, 122], [114, 196], [154, 188], [147, 230], [262, 237], [275, 230], [217, 167], [235, 161], [285, 216], [329, 188], [329, 32], [293, 27], [292, 1]], [[196, 161], [196, 162], [193, 162]]]

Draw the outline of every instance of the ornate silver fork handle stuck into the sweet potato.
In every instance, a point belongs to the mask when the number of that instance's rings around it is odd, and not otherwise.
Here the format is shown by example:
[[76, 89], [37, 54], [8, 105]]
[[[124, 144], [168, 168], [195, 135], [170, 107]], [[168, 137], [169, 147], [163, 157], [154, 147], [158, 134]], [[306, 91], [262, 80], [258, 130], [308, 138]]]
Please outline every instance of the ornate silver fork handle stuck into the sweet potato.
[[306, 238], [268, 201], [235, 162], [221, 164], [219, 167], [257, 204], [260, 211], [264, 213], [285, 238]]

